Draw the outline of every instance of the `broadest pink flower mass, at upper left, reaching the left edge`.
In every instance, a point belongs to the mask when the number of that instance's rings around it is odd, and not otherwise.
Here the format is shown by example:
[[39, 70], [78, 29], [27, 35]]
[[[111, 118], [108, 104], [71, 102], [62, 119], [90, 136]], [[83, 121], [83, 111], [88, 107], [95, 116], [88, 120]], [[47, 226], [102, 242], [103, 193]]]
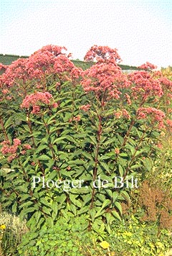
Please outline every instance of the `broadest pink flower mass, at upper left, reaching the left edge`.
[[6, 72], [1, 76], [0, 86], [14, 86], [14, 84], [18, 85], [20, 80], [25, 83], [28, 80], [37, 79], [36, 88], [37, 86], [41, 88], [44, 78], [52, 74], [57, 74], [63, 81], [79, 78], [81, 69], [75, 67], [67, 57], [67, 53], [62, 52], [63, 50], [67, 49], [47, 45], [34, 52], [29, 58], [19, 58], [7, 68], [0, 65], [0, 69], [6, 68]]

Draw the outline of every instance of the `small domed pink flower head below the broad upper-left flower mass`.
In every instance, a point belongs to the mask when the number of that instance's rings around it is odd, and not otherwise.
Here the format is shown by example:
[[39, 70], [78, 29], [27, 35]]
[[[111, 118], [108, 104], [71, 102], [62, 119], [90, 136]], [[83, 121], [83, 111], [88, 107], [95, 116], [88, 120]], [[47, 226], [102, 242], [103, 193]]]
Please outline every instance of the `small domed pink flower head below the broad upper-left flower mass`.
[[29, 109], [29, 107], [32, 106], [32, 114], [38, 114], [40, 111], [40, 105], [41, 104], [47, 104], [52, 107], [57, 107], [58, 104], [54, 103], [54, 100], [52, 98], [52, 94], [48, 92], [40, 92], [37, 91], [36, 93], [32, 93], [30, 95], [27, 95], [22, 104], [21, 108]]

